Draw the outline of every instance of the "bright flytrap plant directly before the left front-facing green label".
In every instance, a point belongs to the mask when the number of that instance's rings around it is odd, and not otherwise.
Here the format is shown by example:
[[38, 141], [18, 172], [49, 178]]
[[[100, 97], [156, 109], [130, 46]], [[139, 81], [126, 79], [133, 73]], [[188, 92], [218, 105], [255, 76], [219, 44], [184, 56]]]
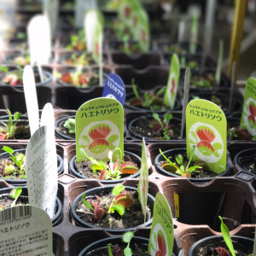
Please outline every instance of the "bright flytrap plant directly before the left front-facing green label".
[[93, 173], [100, 172], [100, 179], [107, 180], [107, 179], [119, 179], [121, 175], [127, 175], [138, 172], [137, 164], [133, 161], [125, 161], [123, 159], [122, 151], [120, 148], [116, 148], [114, 153], [117, 152], [119, 154], [118, 160], [113, 162], [113, 152], [109, 151], [108, 158], [110, 160], [109, 163], [101, 161], [101, 160], [94, 160], [92, 157], [88, 156], [82, 148], [80, 148], [81, 152], [84, 156], [91, 161], [92, 165], [90, 166]]

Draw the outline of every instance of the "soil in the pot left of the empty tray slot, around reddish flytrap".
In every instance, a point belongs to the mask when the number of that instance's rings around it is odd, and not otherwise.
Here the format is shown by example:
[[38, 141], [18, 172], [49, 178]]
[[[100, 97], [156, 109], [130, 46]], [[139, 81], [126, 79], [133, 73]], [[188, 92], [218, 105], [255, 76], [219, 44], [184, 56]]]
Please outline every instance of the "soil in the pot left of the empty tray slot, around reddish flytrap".
[[[124, 215], [119, 215], [119, 212], [114, 213], [105, 213], [102, 216], [101, 220], [97, 220], [94, 217], [94, 212], [91, 212], [89, 208], [84, 206], [82, 201], [79, 202], [78, 209], [76, 209], [79, 218], [83, 219], [84, 222], [88, 224], [92, 224], [96, 227], [104, 228], [104, 229], [127, 229], [134, 228], [140, 224], [144, 224], [144, 215], [142, 212], [140, 201], [138, 200], [137, 191], [129, 191], [129, 195], [133, 196], [134, 205], [131, 208], [126, 208]], [[101, 198], [100, 207], [105, 209], [107, 206], [111, 204], [113, 199], [115, 198], [111, 192], [107, 192], [104, 194], [98, 195]], [[92, 201], [97, 204], [96, 196], [88, 196], [86, 197], [86, 201], [90, 202], [90, 198]], [[147, 209], [147, 217], [146, 221], [151, 217], [151, 212], [149, 208]]]

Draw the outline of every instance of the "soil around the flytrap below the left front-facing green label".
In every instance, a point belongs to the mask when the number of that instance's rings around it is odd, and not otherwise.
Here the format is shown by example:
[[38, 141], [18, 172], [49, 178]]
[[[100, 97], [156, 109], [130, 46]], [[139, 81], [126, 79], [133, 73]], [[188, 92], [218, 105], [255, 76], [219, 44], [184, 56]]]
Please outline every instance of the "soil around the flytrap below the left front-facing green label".
[[[130, 155], [125, 154], [124, 157], [125, 161], [132, 161]], [[108, 162], [109, 163], [109, 162]], [[100, 179], [100, 172], [92, 172], [92, 170], [90, 169], [90, 166], [92, 165], [90, 160], [84, 160], [80, 163], [77, 163], [77, 161], [75, 161], [75, 170], [77, 172], [79, 172], [79, 174], [83, 175], [84, 177], [89, 177], [89, 178], [96, 178], [96, 179]], [[122, 174], [122, 178], [123, 177], [129, 177], [131, 176], [131, 174]]]

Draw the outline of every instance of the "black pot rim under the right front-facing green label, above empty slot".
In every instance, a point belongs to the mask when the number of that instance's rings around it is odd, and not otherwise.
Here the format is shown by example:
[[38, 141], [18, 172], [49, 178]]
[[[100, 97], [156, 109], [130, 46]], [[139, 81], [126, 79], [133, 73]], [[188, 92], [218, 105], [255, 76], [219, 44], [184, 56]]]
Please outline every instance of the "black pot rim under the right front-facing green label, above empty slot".
[[[177, 154], [183, 154], [187, 152], [187, 148], [174, 148], [174, 149], [170, 149], [170, 150], [166, 150], [163, 152], [163, 154], [166, 155], [167, 158], [169, 158], [170, 156], [173, 157], [173, 159], [175, 159], [175, 155]], [[167, 172], [166, 170], [164, 170], [163, 168], [160, 167], [160, 162], [161, 161], [165, 161], [164, 157], [161, 154], [158, 154], [154, 160], [154, 166], [156, 169], [156, 172], [159, 172], [160, 174], [164, 175], [164, 176], [169, 176], [169, 177], [181, 177], [180, 175], [174, 174], [172, 172]], [[215, 177], [224, 177], [224, 176], [228, 176], [230, 173], [230, 165], [227, 162], [227, 166], [226, 166], [226, 171], [216, 174], [213, 177], [206, 177], [206, 178], [196, 178], [196, 177], [189, 177], [189, 181], [192, 183], [207, 183], [209, 181], [211, 181], [213, 178]]]

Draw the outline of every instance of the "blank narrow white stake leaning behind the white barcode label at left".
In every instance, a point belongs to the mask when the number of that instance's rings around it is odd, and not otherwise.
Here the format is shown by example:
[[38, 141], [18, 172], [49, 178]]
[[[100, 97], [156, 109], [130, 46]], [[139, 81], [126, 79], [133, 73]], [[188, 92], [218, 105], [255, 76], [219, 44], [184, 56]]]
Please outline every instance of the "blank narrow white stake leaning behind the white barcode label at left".
[[26, 99], [26, 110], [31, 136], [39, 127], [38, 96], [32, 67], [26, 66], [23, 72], [23, 86]]

